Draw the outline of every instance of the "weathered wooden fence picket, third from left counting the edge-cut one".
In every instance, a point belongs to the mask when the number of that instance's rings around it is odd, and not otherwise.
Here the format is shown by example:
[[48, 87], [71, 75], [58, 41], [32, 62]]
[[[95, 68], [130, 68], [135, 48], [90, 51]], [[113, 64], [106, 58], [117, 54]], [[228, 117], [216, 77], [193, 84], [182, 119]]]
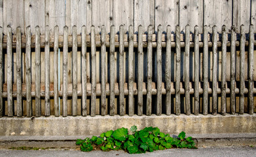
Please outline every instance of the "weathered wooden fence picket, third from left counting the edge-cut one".
[[16, 42], [17, 116], [22, 116], [22, 34], [20, 27], [16, 29]]

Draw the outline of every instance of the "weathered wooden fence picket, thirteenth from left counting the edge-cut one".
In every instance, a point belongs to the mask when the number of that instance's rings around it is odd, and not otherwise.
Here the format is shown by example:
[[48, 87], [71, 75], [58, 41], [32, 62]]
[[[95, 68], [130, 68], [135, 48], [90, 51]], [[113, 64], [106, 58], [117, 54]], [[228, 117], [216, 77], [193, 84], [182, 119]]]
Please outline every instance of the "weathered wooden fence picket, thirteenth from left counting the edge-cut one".
[[110, 48], [109, 48], [109, 64], [110, 64], [110, 104], [109, 104], [109, 115], [115, 114], [115, 26], [110, 28]]

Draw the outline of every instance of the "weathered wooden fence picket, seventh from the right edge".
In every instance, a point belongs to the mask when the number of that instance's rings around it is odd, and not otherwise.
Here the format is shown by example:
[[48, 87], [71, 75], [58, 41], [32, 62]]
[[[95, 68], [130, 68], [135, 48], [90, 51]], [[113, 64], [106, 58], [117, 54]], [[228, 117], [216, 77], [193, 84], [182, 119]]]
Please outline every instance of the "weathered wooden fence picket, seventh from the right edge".
[[194, 114], [199, 114], [199, 30], [198, 26], [194, 26]]

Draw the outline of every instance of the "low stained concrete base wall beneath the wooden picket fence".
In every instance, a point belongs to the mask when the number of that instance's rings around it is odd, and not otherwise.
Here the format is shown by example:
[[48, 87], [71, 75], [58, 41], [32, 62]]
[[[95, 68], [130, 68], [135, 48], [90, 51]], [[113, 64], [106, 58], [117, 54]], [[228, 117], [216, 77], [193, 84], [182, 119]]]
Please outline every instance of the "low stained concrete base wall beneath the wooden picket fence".
[[256, 114], [199, 116], [67, 116], [2, 117], [0, 136], [84, 136], [100, 135], [107, 130], [158, 127], [164, 133], [256, 133]]

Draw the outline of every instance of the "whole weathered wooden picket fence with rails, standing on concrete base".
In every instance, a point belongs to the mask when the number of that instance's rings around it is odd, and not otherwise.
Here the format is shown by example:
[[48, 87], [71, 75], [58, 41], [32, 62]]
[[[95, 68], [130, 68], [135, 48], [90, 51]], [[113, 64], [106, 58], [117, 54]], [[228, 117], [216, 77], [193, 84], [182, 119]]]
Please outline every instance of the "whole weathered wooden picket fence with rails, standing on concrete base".
[[0, 27], [0, 116], [256, 112], [253, 25], [142, 28]]

